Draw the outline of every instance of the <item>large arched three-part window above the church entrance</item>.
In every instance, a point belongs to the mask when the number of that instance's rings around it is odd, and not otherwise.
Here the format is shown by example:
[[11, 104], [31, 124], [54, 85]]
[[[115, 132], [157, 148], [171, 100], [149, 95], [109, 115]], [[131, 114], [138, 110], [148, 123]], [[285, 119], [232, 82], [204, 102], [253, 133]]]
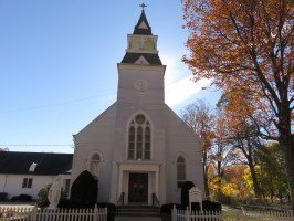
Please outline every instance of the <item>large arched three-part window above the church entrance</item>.
[[128, 159], [150, 160], [151, 129], [150, 123], [143, 114], [138, 114], [128, 127]]

